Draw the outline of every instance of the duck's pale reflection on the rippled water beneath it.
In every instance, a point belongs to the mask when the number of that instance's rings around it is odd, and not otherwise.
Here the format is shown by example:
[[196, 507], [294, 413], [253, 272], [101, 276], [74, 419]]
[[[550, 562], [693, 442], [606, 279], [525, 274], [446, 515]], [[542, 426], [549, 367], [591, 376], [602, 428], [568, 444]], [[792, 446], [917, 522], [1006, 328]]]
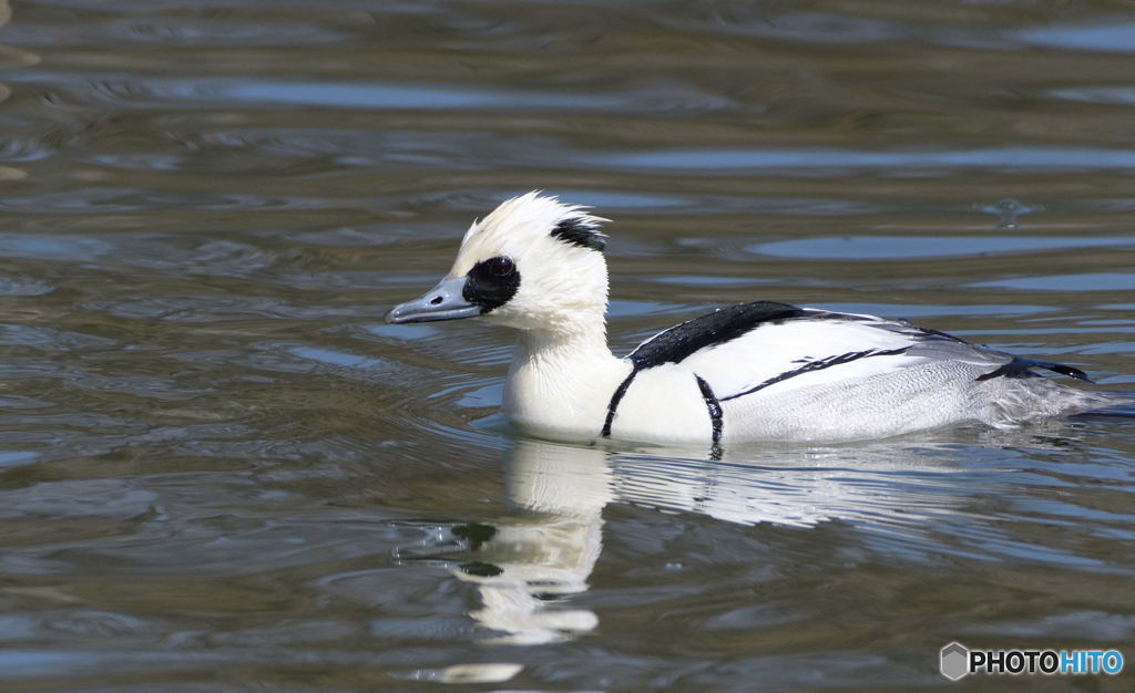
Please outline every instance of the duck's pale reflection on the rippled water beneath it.
[[892, 549], [920, 550], [933, 521], [957, 516], [973, 498], [966, 492], [973, 480], [959, 481], [973, 470], [959, 464], [951, 442], [780, 448], [714, 459], [689, 450], [683, 457], [659, 448], [615, 451], [521, 439], [505, 460], [507, 516], [429, 523], [430, 536], [402, 547], [398, 558], [444, 565], [477, 585], [482, 606], [470, 616], [495, 633], [486, 642], [570, 640], [598, 625], [596, 614], [571, 598], [588, 589], [608, 504], [747, 525], [841, 521], [898, 542]]

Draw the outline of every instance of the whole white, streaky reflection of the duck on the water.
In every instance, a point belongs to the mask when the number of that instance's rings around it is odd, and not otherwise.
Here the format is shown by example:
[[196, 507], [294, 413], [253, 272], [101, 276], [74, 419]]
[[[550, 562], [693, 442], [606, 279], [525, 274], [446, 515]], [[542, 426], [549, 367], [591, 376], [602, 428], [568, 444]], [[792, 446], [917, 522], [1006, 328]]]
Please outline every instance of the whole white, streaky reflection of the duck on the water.
[[[1135, 407], [1113, 411], [1135, 422]], [[732, 525], [794, 532], [835, 527], [848, 543], [894, 560], [952, 556], [1000, 560], [1012, 538], [985, 521], [1029, 460], [1088, 455], [1083, 422], [1010, 431], [960, 429], [885, 441], [697, 450], [579, 446], [519, 438], [505, 453], [501, 517], [400, 522], [422, 539], [395, 551], [476, 585], [470, 617], [484, 642], [538, 644], [592, 631], [598, 616], [573, 607], [603, 551], [604, 508], [629, 504]], [[825, 541], [831, 541], [829, 536]]]

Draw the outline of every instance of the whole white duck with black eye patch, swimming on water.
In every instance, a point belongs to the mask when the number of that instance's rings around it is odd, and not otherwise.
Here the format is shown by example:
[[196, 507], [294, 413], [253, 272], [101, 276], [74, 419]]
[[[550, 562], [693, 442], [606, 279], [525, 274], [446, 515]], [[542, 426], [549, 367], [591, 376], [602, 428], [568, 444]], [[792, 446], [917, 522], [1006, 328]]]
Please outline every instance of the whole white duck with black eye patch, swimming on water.
[[515, 329], [505, 413], [555, 440], [851, 440], [1132, 402], [1033, 372], [1087, 380], [1071, 366], [903, 320], [772, 302], [717, 309], [619, 358], [606, 338], [605, 221], [536, 192], [508, 200], [473, 222], [436, 287], [386, 321], [484, 316]]

